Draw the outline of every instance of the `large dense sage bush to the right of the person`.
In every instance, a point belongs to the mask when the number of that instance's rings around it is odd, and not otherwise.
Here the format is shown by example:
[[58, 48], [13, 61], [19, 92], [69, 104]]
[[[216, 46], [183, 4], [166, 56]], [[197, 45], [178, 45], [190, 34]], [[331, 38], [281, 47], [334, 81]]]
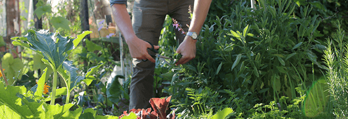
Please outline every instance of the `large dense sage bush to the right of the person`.
[[[185, 115], [230, 107], [248, 117], [252, 111], [247, 110], [255, 104], [273, 100], [284, 105], [282, 96], [289, 97], [287, 101], [296, 99], [300, 95], [295, 87], [308, 91], [323, 76], [325, 66], [317, 54], [322, 54], [325, 46], [317, 41], [322, 34], [317, 30], [321, 18], [311, 14], [315, 7], [299, 7], [292, 0], [259, 0], [256, 9], [250, 8], [248, 1], [232, 4], [225, 10], [231, 10], [227, 15], [207, 18], [195, 59], [180, 66], [156, 63], [155, 79], [159, 80], [155, 83], [168, 85], [162, 91], [173, 95], [172, 108]], [[162, 55], [173, 56], [177, 47], [171, 38], [172, 24], [167, 18], [159, 43]], [[217, 103], [205, 101], [206, 110], [201, 111], [200, 103], [187, 97], [190, 93], [185, 89], [203, 93], [205, 87], [216, 92], [206, 97], [217, 98]], [[225, 90], [234, 92], [234, 98], [229, 99], [232, 96]]]

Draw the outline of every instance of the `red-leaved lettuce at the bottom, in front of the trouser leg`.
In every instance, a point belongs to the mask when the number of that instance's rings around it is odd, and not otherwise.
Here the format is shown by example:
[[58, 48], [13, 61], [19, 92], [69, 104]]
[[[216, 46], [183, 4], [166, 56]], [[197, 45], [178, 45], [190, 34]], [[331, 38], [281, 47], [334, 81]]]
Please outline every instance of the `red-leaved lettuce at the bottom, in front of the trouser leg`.
[[[174, 119], [175, 113], [174, 111], [166, 116], [166, 110], [168, 110], [168, 104], [171, 100], [172, 96], [169, 96], [167, 99], [160, 98], [151, 98], [150, 104], [153, 108], [151, 112], [151, 108], [148, 109], [131, 109], [129, 112], [133, 112], [136, 114], [136, 119]], [[121, 116], [118, 118], [121, 119], [124, 116], [128, 116], [127, 111], [124, 111]]]

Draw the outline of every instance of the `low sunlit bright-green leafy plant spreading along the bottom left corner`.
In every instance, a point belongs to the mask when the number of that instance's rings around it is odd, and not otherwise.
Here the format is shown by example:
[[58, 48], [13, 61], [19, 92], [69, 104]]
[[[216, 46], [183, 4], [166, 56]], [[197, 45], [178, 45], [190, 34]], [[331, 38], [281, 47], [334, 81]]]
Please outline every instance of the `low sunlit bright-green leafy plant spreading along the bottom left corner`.
[[[45, 79], [45, 73], [40, 80]], [[40, 89], [38, 89], [40, 90]], [[32, 91], [27, 91], [24, 86], [5, 85], [0, 82], [0, 118], [11, 119], [118, 119], [114, 116], [100, 116], [96, 115], [96, 111], [89, 108], [82, 113], [82, 108], [74, 111], [69, 109], [74, 105], [73, 103], [64, 104], [63, 106], [56, 104], [50, 105], [45, 103], [45, 98], [39, 96], [42, 92], [37, 91], [33, 94]], [[42, 91], [42, 90], [41, 90]], [[92, 115], [90, 115], [91, 113]]]

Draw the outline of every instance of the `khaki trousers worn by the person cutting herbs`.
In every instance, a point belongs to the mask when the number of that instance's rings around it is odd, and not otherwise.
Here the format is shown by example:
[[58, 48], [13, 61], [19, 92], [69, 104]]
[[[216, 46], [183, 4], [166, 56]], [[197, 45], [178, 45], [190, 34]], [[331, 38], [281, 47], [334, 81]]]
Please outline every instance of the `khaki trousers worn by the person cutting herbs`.
[[[194, 0], [135, 0], [132, 25], [137, 37], [158, 45], [159, 36], [166, 15], [176, 19], [184, 29], [191, 19], [188, 13], [189, 5], [193, 8]], [[175, 29], [176, 40], [181, 43], [184, 34]], [[151, 55], [154, 53], [149, 51]], [[129, 110], [151, 107], [149, 100], [153, 97], [153, 75], [155, 63], [143, 62], [133, 58], [133, 74], [130, 83]]]

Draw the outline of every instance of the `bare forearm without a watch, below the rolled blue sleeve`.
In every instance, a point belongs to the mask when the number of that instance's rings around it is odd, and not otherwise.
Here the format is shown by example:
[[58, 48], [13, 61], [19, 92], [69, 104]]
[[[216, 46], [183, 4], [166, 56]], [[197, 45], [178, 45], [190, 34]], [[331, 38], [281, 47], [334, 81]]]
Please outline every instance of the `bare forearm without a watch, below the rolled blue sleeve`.
[[127, 12], [126, 4], [113, 4], [111, 8], [116, 25], [125, 37], [126, 42], [129, 39], [134, 39], [136, 35]]

